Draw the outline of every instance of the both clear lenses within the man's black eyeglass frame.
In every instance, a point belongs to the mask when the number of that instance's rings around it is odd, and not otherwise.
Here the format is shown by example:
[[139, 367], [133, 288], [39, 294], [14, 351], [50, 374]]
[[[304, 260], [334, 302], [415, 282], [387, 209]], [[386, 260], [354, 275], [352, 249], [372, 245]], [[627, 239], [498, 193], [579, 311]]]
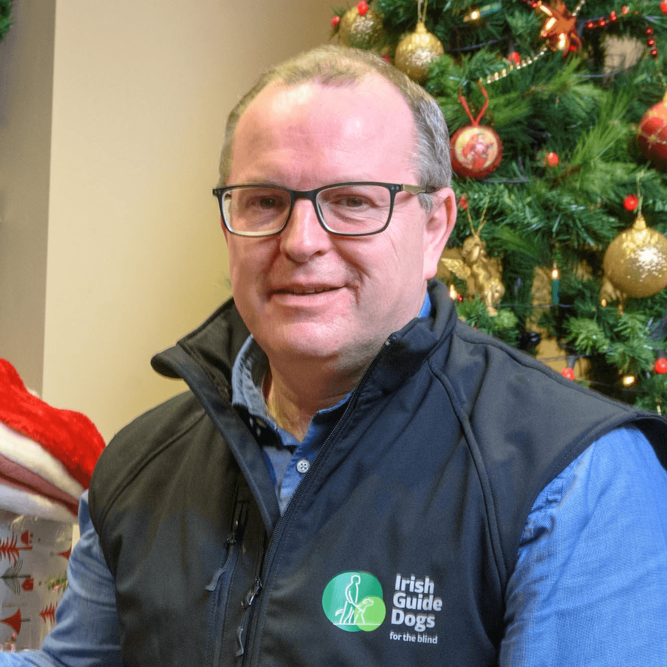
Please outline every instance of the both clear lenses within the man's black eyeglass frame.
[[[384, 185], [339, 185], [317, 193], [317, 206], [330, 231], [372, 233], [386, 225], [392, 195]], [[223, 195], [227, 225], [241, 233], [280, 229], [289, 215], [289, 192], [279, 187], [235, 187]]]

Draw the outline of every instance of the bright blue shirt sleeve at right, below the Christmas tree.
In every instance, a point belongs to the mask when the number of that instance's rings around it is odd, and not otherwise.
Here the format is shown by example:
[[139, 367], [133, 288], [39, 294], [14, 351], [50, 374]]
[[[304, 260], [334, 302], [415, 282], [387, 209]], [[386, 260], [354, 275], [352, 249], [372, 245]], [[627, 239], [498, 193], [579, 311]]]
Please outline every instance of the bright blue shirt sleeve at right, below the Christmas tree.
[[667, 665], [667, 470], [640, 431], [544, 488], [506, 601], [500, 667]]

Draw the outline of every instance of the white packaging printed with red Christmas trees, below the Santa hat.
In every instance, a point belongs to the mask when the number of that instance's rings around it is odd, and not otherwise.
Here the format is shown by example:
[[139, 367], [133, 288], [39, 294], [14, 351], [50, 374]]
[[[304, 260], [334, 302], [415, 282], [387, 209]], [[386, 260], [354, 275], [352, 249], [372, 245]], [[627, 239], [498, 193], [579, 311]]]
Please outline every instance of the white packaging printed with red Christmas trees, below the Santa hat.
[[0, 510], [0, 651], [39, 648], [67, 588], [73, 524]]

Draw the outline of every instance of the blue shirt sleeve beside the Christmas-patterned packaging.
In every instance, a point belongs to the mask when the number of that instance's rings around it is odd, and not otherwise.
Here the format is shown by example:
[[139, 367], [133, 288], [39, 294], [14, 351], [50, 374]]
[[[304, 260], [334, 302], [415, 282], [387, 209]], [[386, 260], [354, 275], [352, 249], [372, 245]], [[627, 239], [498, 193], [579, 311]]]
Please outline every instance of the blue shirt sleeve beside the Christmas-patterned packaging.
[[55, 627], [40, 651], [0, 652], [0, 667], [122, 666], [115, 587], [90, 520], [88, 492], [79, 503], [79, 527]]

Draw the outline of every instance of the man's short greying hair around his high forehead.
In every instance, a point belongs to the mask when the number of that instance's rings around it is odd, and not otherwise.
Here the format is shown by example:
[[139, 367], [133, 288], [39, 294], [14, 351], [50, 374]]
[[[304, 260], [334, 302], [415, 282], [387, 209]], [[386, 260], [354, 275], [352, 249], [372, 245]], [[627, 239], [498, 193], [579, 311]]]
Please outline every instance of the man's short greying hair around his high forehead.
[[[269, 83], [277, 81], [287, 87], [296, 87], [317, 82], [324, 86], [352, 87], [368, 75], [378, 75], [394, 85], [412, 110], [417, 128], [415, 169], [419, 174], [419, 185], [429, 191], [448, 187], [452, 180], [450, 141], [447, 123], [438, 103], [420, 85], [380, 56], [370, 51], [337, 46], [317, 47], [267, 69], [239, 100], [227, 118], [218, 187], [226, 185], [229, 178], [234, 132], [239, 118]], [[430, 209], [430, 195], [419, 197], [422, 207]]]

